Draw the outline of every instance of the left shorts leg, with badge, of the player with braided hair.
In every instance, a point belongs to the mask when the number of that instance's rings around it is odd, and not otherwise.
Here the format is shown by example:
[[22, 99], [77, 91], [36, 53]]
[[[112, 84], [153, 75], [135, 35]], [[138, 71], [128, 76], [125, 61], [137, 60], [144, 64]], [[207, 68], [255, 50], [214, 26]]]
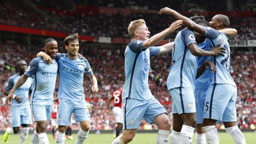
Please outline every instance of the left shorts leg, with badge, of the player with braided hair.
[[34, 122], [47, 121], [46, 105], [31, 105]]

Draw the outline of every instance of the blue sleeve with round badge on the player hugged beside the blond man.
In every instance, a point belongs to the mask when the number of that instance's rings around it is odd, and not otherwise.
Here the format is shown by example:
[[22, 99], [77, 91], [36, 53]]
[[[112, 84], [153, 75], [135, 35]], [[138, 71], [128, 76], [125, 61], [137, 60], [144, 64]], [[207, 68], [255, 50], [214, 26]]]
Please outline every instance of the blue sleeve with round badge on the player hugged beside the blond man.
[[184, 29], [181, 32], [181, 38], [182, 41], [184, 42], [184, 44], [188, 47], [190, 44], [192, 43], [196, 43], [196, 37], [193, 31], [191, 31], [190, 29]]

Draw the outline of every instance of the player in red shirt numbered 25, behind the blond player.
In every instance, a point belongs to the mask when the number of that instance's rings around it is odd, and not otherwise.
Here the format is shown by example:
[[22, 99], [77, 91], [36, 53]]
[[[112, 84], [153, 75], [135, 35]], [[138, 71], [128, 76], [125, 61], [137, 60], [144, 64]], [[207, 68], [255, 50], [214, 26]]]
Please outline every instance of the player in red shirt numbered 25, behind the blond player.
[[113, 113], [116, 118], [116, 137], [119, 136], [122, 126], [123, 126], [123, 109], [122, 109], [122, 89], [114, 91], [114, 93], [109, 97], [107, 102], [107, 110], [110, 108], [110, 101], [114, 99]]

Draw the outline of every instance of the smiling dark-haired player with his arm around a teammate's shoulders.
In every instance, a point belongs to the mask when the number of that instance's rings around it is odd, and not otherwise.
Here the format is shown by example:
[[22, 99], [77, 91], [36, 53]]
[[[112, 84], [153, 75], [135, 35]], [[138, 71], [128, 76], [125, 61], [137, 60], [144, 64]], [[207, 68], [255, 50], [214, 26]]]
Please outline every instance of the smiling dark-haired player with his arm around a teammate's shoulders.
[[[70, 125], [72, 113], [76, 122], [80, 122], [81, 129], [77, 134], [76, 144], [82, 144], [86, 140], [90, 129], [90, 113], [85, 102], [84, 95], [84, 73], [90, 78], [92, 92], [98, 92], [97, 79], [94, 76], [90, 64], [86, 58], [79, 58], [78, 34], [70, 35], [64, 39], [65, 49], [68, 54], [58, 53], [54, 58], [59, 64], [60, 88], [58, 92], [59, 113], [58, 130], [56, 132], [56, 143], [64, 144], [65, 131]], [[48, 58], [46, 53], [40, 52], [38, 56]]]

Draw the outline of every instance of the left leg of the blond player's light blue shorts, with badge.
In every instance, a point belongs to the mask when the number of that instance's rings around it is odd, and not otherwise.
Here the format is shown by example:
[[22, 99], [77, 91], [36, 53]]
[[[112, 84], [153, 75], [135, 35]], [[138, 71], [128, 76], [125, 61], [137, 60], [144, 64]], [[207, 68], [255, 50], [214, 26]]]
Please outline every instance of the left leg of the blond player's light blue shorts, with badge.
[[148, 101], [126, 98], [123, 101], [123, 129], [136, 129], [144, 116]]

